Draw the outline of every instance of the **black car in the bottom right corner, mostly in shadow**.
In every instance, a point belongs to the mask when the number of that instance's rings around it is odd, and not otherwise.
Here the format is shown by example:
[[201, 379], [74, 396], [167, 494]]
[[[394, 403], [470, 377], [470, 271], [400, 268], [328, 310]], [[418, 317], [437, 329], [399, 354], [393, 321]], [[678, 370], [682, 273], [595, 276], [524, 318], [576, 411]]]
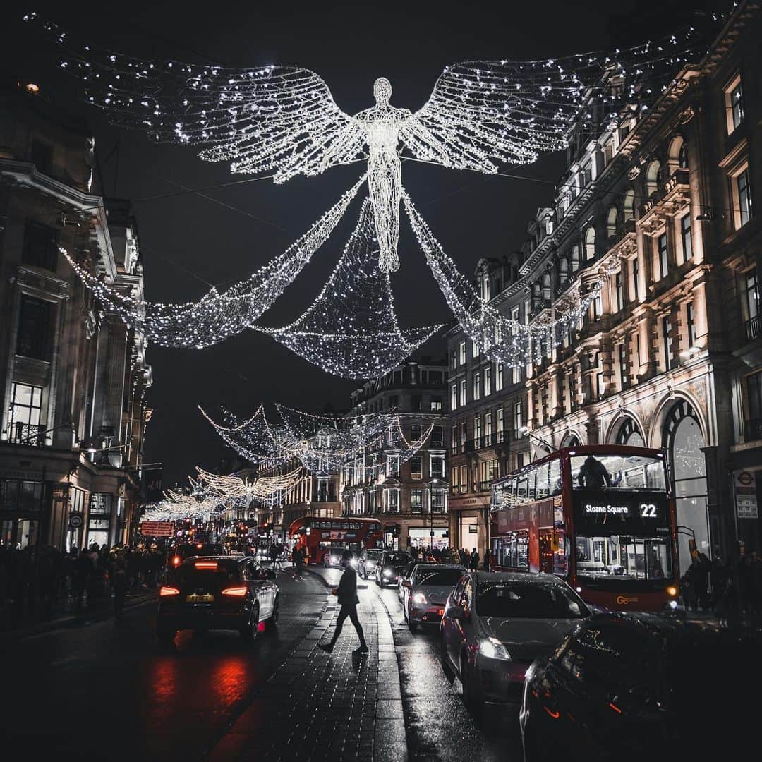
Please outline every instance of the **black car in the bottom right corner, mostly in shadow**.
[[[683, 760], [741, 751], [759, 724], [759, 629], [648, 613], [578, 624], [527, 671], [527, 760]], [[559, 744], [562, 744], [559, 745]], [[710, 748], [718, 744], [718, 748]]]

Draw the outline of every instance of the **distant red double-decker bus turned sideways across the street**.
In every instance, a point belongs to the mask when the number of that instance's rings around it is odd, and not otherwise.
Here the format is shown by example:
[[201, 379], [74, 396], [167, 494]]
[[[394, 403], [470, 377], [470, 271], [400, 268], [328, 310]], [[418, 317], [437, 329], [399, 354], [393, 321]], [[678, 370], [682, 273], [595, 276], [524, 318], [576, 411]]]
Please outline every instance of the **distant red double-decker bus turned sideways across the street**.
[[323, 556], [331, 548], [341, 547], [358, 554], [383, 543], [381, 522], [378, 519], [341, 517], [322, 519], [306, 516], [291, 522], [289, 536], [296, 539], [297, 548], [305, 547], [307, 562], [322, 564]]

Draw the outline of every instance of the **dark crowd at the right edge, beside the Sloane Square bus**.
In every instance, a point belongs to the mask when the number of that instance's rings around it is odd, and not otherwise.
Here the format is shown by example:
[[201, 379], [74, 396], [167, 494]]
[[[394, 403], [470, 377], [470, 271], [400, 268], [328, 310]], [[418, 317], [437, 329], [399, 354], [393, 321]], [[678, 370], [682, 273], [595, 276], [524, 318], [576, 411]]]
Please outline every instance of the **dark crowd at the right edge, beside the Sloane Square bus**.
[[712, 612], [716, 616], [762, 614], [762, 559], [756, 551], [741, 553], [735, 563], [722, 559], [715, 548], [710, 561], [696, 552], [680, 578], [680, 594], [688, 611]]

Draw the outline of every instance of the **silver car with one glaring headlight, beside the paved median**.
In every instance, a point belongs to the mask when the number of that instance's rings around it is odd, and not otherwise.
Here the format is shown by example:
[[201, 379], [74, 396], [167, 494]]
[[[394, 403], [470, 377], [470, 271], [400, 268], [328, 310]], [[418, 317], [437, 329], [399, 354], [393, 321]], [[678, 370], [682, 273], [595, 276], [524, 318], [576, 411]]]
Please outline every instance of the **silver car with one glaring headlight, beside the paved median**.
[[553, 575], [469, 572], [447, 599], [442, 618], [444, 674], [450, 682], [459, 677], [475, 716], [485, 702], [520, 703], [532, 661], [552, 652], [590, 614]]

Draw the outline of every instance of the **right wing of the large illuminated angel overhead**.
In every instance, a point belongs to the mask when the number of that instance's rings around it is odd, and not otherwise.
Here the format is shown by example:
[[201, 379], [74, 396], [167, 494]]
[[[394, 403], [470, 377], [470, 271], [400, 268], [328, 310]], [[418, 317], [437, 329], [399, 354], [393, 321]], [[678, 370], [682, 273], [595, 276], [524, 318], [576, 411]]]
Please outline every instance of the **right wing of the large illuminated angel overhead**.
[[[623, 104], [648, 100], [695, 53], [693, 30], [655, 43], [548, 61], [466, 61], [447, 66], [424, 107], [413, 115], [429, 136], [402, 130], [418, 158], [495, 172], [564, 149], [575, 123], [606, 126]], [[588, 95], [600, 94], [593, 108]]]

